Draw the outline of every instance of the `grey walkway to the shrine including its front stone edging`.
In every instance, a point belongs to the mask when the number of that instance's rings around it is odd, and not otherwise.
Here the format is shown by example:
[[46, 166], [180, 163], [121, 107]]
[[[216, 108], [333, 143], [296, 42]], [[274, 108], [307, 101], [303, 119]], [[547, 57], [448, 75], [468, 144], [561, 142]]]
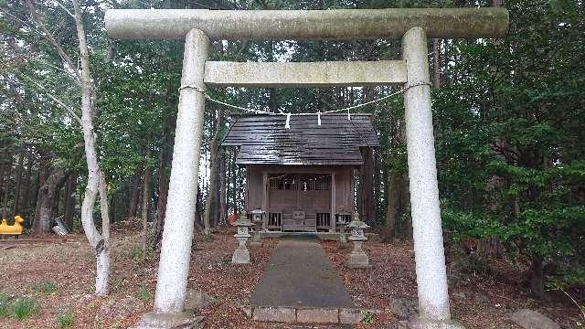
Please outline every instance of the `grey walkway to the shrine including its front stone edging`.
[[338, 323], [356, 313], [343, 281], [318, 239], [281, 239], [252, 295], [254, 319]]

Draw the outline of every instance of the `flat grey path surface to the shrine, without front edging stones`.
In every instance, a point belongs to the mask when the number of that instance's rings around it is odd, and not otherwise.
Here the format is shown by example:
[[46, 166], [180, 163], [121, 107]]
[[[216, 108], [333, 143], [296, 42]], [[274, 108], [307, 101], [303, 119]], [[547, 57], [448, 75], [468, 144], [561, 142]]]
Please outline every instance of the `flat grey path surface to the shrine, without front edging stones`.
[[281, 239], [252, 295], [254, 306], [351, 308], [343, 281], [318, 239]]

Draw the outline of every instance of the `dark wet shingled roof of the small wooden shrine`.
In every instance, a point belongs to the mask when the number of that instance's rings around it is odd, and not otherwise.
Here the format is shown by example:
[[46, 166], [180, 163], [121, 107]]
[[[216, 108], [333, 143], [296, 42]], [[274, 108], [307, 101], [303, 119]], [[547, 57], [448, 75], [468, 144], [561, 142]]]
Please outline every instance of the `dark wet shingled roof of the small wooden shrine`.
[[359, 148], [379, 146], [369, 114], [242, 115], [230, 124], [224, 146], [239, 146], [236, 164], [363, 164]]

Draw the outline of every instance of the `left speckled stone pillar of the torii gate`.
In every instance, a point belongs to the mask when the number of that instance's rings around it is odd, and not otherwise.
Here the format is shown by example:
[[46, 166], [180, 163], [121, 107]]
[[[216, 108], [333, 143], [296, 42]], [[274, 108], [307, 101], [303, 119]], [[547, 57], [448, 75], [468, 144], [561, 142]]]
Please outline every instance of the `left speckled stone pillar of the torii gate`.
[[154, 313], [182, 313], [185, 304], [203, 136], [202, 90], [208, 44], [209, 39], [201, 30], [191, 29], [186, 34]]

